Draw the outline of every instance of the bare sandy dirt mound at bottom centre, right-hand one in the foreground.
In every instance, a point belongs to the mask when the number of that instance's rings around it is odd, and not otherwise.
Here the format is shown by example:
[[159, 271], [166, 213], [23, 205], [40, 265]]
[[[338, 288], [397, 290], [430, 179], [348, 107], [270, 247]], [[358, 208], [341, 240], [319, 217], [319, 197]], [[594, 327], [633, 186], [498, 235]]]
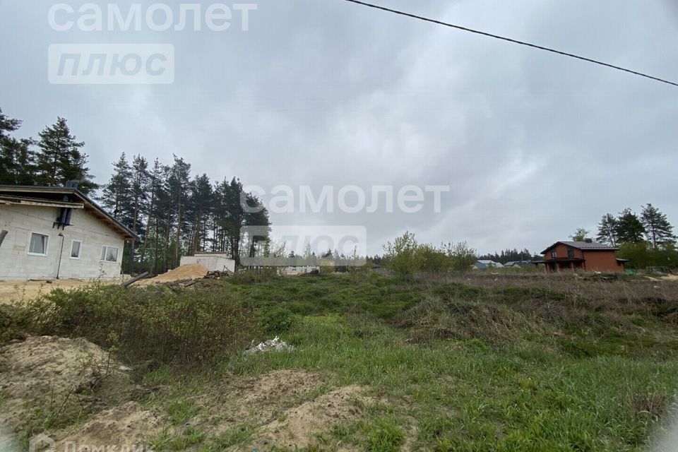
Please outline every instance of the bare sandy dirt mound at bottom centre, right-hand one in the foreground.
[[345, 386], [290, 408], [263, 427], [253, 446], [261, 451], [272, 446], [307, 448], [316, 442], [317, 434], [327, 432], [334, 424], [350, 424], [359, 417], [362, 407], [371, 403], [371, 398], [361, 393], [360, 386]]

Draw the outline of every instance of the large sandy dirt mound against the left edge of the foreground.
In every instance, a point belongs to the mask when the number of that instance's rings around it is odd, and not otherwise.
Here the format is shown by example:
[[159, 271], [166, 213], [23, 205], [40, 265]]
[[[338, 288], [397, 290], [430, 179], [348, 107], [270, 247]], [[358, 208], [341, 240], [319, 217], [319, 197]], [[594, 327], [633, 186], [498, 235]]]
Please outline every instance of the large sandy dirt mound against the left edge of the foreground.
[[129, 384], [115, 370], [118, 365], [85, 339], [35, 336], [8, 343], [0, 347], [0, 391], [7, 399], [0, 424], [17, 429], [37, 407], [61, 415], [71, 408], [96, 408], [102, 398], [95, 397], [95, 390]]

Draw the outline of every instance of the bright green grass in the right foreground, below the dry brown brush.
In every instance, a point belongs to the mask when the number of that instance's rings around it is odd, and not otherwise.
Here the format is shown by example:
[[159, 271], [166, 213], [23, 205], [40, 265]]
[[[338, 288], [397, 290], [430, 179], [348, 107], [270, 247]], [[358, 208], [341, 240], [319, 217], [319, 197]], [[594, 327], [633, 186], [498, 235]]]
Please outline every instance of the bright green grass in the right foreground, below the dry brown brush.
[[413, 428], [421, 450], [631, 451], [665, 408], [643, 410], [643, 400], [668, 403], [678, 388], [674, 360], [573, 357], [550, 340], [412, 345], [403, 331], [340, 316], [302, 319], [287, 339], [295, 353], [236, 357], [225, 366], [239, 374], [319, 369], [337, 385], [370, 386], [393, 404], [394, 420], [393, 429], [367, 427], [367, 450], [391, 450], [372, 446]]

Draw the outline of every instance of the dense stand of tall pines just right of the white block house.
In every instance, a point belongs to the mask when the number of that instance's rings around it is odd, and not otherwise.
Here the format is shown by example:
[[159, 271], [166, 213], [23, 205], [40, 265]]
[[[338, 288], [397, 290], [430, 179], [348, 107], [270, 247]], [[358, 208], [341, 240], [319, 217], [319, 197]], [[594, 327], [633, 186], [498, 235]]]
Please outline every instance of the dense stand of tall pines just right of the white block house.
[[174, 155], [171, 165], [142, 155], [131, 162], [122, 153], [103, 186], [100, 203], [141, 240], [127, 253], [129, 271], [165, 271], [182, 255], [199, 251], [228, 254], [237, 263], [266, 252], [268, 236], [248, 237], [245, 226], [270, 226], [268, 210], [243, 191], [236, 177], [212, 182], [207, 174], [191, 178], [191, 164]]

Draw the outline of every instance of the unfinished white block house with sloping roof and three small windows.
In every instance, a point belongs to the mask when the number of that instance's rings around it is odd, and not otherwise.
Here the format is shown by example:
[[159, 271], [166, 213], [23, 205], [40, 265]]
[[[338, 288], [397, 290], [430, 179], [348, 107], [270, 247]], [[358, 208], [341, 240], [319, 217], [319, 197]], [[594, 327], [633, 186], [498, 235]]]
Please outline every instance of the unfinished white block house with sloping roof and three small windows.
[[0, 280], [116, 278], [131, 239], [73, 186], [0, 185]]

